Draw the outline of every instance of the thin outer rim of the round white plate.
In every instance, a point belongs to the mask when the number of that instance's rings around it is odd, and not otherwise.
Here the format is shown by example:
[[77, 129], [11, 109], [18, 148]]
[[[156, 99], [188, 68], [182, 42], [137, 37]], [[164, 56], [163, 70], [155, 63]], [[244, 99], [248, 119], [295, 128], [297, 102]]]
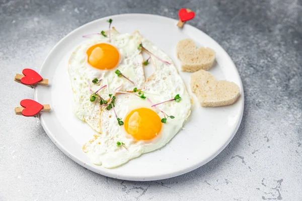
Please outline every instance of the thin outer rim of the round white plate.
[[[165, 19], [165, 20], [170, 20], [170, 21], [173, 21], [175, 22], [175, 26], [177, 24], [177, 20], [176, 19], [173, 19], [173, 18], [169, 18], [169, 17], [166, 17], [166, 16], [160, 16], [160, 15], [153, 15], [153, 14], [141, 14], [141, 13], [129, 13], [129, 14], [117, 14], [117, 15], [112, 15], [112, 16], [106, 16], [106, 17], [103, 17], [103, 18], [99, 18], [99, 19], [96, 19], [96, 20], [93, 20], [91, 22], [88, 22], [74, 30], [72, 30], [71, 32], [69, 32], [67, 35], [65, 35], [62, 39], [60, 39], [56, 45], [50, 50], [50, 52], [47, 54], [46, 58], [44, 59], [42, 65], [41, 65], [41, 68], [39, 70], [39, 73], [41, 73], [42, 71], [42, 68], [43, 66], [46, 64], [46, 61], [48, 60], [48, 58], [53, 54], [53, 51], [54, 49], [65, 39], [67, 38], [69, 35], [73, 34], [74, 32], [77, 32], [79, 29], [81, 29], [82, 27], [84, 26], [87, 26], [87, 25], [90, 25], [90, 24], [93, 24], [93, 23], [96, 23], [98, 21], [102, 21], [104, 19], [108, 19], [108, 18], [113, 18], [113, 17], [123, 17], [123, 16], [146, 16], [146, 17], [156, 17], [156, 18], [162, 18], [162, 19]], [[200, 29], [190, 25], [190, 24], [186, 24], [186, 26], [189, 26], [195, 30], [198, 30], [202, 33], [204, 33], [203, 31], [201, 31]], [[204, 33], [205, 35], [207, 35], [206, 33]], [[210, 37], [209, 35], [207, 35], [208, 37]], [[157, 176], [137, 176], [137, 177], [128, 177], [126, 175], [116, 175], [114, 173], [110, 173], [110, 172], [103, 172], [101, 171], [100, 169], [97, 169], [95, 168], [94, 166], [96, 165], [86, 165], [86, 163], [84, 161], [82, 161], [81, 159], [79, 159], [77, 156], [74, 156], [72, 155], [71, 153], [69, 153], [67, 151], [67, 149], [64, 148], [64, 146], [62, 146], [60, 144], [60, 142], [56, 141], [54, 139], [54, 135], [51, 134], [51, 132], [49, 131], [49, 129], [47, 128], [47, 125], [46, 125], [46, 122], [44, 121], [43, 119], [43, 116], [40, 116], [39, 115], [39, 120], [40, 120], [40, 123], [44, 129], [44, 131], [46, 132], [47, 136], [51, 139], [51, 141], [59, 148], [59, 150], [61, 150], [67, 157], [69, 157], [71, 160], [73, 160], [74, 162], [78, 163], [79, 165], [85, 167], [86, 169], [89, 169], [93, 172], [96, 172], [98, 174], [101, 174], [103, 176], [108, 176], [108, 177], [111, 177], [111, 178], [116, 178], [116, 179], [123, 179], [123, 180], [131, 180], [131, 181], [153, 181], [153, 180], [160, 180], [160, 179], [167, 179], [167, 178], [171, 178], [171, 177], [175, 177], [175, 176], [179, 176], [179, 175], [182, 175], [182, 174], [185, 174], [185, 173], [188, 173], [192, 170], [195, 170], [201, 166], [203, 166], [204, 164], [208, 163], [209, 161], [211, 161], [212, 159], [214, 159], [226, 146], [228, 146], [230, 144], [230, 142], [232, 141], [232, 139], [234, 138], [234, 136], [236, 135], [241, 123], [242, 123], [242, 118], [243, 118], [243, 113], [244, 113], [244, 103], [245, 103], [245, 97], [244, 97], [244, 87], [243, 87], [243, 83], [242, 83], [242, 79], [241, 79], [241, 76], [239, 74], [239, 71], [234, 63], [234, 61], [232, 60], [232, 58], [230, 57], [230, 55], [221, 47], [221, 45], [219, 45], [212, 37], [210, 37], [214, 43], [216, 43], [216, 45], [218, 45], [221, 50], [224, 52], [224, 54], [226, 56], [229, 57], [230, 61], [232, 62], [232, 64], [235, 66], [235, 70], [237, 71], [238, 75], [239, 75], [239, 85], [240, 85], [240, 88], [242, 89], [241, 90], [241, 98], [242, 98], [242, 104], [240, 105], [240, 108], [241, 108], [241, 113], [240, 113], [240, 118], [239, 118], [239, 121], [238, 121], [238, 124], [236, 126], [236, 128], [234, 129], [233, 133], [232, 133], [232, 136], [223, 144], [223, 146], [221, 146], [214, 154], [212, 154], [210, 157], [206, 158], [206, 160], [203, 160], [199, 163], [196, 163], [195, 165], [192, 165], [190, 167], [187, 167], [185, 169], [182, 169], [182, 170], [177, 170], [177, 171], [171, 171], [169, 174], [158, 174]], [[37, 101], [37, 88], [34, 89], [34, 99]], [[98, 167], [98, 166], [96, 166]]]

